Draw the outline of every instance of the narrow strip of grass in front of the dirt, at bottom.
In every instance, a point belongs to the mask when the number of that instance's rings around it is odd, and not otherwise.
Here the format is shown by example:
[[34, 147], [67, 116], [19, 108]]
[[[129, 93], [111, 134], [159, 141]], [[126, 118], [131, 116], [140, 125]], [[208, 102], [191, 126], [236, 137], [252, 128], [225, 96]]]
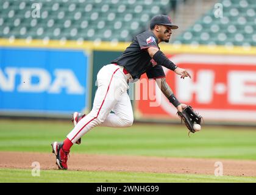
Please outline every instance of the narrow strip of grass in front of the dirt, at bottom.
[[107, 171], [41, 171], [40, 177], [33, 177], [31, 170], [0, 169], [0, 182], [255, 182], [256, 177], [204, 176], [194, 174], [152, 174], [145, 172], [107, 172]]

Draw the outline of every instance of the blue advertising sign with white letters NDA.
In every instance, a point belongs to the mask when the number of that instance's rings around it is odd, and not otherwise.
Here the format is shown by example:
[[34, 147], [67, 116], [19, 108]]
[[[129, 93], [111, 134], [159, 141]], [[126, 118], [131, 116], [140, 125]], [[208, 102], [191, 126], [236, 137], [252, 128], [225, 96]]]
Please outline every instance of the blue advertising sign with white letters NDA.
[[0, 48], [0, 112], [82, 111], [89, 71], [83, 50]]

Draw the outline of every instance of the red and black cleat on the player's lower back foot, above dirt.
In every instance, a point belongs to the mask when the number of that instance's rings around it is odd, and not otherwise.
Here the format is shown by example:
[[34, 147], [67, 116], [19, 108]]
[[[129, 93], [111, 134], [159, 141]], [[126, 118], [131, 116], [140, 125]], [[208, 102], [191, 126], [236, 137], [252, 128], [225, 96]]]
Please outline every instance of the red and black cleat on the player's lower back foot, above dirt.
[[51, 146], [52, 153], [56, 156], [56, 165], [58, 165], [59, 169], [68, 169], [68, 164], [66, 162], [68, 161], [69, 151], [63, 151], [63, 143], [57, 143], [57, 141], [52, 143]]

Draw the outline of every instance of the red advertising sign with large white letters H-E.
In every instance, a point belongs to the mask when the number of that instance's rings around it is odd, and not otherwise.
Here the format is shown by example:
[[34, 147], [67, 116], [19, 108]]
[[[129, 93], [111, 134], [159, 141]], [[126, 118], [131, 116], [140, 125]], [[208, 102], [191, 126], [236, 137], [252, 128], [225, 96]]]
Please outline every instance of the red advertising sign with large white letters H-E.
[[[255, 56], [176, 54], [168, 57], [192, 76], [180, 79], [165, 68], [166, 81], [180, 102], [194, 107], [207, 121], [256, 122]], [[158, 91], [155, 99], [136, 101], [138, 118], [177, 119], [176, 108], [158, 87], [155, 90]], [[158, 103], [155, 107], [154, 101]]]

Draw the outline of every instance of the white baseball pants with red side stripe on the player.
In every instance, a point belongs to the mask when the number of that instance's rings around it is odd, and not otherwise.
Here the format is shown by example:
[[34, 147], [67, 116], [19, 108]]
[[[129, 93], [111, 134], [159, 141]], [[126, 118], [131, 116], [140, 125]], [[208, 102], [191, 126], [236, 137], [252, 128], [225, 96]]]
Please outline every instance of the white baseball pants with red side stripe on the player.
[[95, 126], [132, 126], [132, 104], [127, 94], [127, 75], [123, 73], [122, 66], [103, 66], [97, 75], [97, 82], [93, 109], [67, 135], [73, 144]]

